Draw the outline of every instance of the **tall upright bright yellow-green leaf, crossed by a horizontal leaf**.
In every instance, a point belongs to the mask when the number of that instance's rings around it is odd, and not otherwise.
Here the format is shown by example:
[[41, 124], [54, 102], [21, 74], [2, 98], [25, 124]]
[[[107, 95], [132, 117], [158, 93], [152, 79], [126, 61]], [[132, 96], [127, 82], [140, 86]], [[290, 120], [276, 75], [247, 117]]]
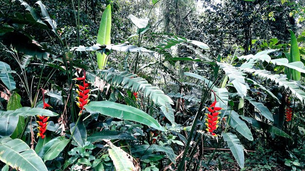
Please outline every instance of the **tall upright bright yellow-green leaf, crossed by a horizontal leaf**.
[[[103, 12], [96, 43], [101, 45], [109, 45], [111, 43], [110, 39], [111, 33], [111, 4], [107, 5], [105, 11]], [[107, 55], [105, 53], [101, 54], [99, 52], [96, 53], [97, 57], [97, 65], [99, 69], [104, 69], [107, 63]]]

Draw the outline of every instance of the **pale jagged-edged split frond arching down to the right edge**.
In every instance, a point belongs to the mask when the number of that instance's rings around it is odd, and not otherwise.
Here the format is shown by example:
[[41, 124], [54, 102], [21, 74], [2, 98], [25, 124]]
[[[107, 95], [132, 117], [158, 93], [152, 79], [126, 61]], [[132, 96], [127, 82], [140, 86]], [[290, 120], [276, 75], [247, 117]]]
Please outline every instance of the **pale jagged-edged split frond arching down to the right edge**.
[[243, 68], [242, 71], [254, 74], [261, 79], [270, 80], [279, 87], [284, 87], [285, 90], [289, 89], [292, 93], [292, 97], [297, 97], [302, 103], [305, 103], [305, 92], [300, 88], [300, 85], [297, 82], [288, 80], [286, 76], [272, 74], [270, 71], [261, 69]]

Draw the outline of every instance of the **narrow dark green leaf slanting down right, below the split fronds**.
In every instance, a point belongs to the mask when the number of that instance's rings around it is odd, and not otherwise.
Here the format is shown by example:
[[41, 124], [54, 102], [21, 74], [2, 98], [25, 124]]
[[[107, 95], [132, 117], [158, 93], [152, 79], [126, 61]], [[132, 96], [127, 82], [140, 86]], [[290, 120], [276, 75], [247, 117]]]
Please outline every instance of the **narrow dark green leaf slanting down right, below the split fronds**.
[[248, 117], [245, 117], [245, 116], [241, 116], [241, 118], [243, 120], [246, 120], [250, 124], [252, 124], [257, 129], [263, 129], [263, 130], [265, 130], [265, 131], [267, 131], [269, 133], [275, 134], [277, 136], [281, 136], [281, 137], [286, 137], [286, 138], [292, 139], [292, 137], [290, 137], [288, 134], [286, 134], [284, 131], [280, 130], [277, 127], [274, 127], [274, 126], [269, 125], [267, 123], [264, 123], [262, 121], [254, 120], [252, 118], [248, 118]]

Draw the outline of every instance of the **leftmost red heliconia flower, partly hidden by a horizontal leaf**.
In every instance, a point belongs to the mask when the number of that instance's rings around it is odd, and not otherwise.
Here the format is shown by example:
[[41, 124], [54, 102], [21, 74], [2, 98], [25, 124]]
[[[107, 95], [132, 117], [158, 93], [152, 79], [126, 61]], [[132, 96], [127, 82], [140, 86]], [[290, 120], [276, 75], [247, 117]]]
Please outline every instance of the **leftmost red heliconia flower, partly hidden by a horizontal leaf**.
[[[50, 104], [48, 103], [45, 103], [45, 100], [44, 100], [44, 92], [45, 90], [42, 89], [42, 102], [43, 102], [43, 108], [52, 108]], [[37, 124], [38, 124], [38, 133], [37, 133], [37, 137], [41, 137], [42, 139], [45, 138], [45, 132], [47, 131], [47, 125], [48, 125], [48, 120], [50, 117], [46, 117], [46, 116], [40, 116], [40, 115], [37, 115], [37, 118], [38, 118], [38, 121], [37, 121]]]

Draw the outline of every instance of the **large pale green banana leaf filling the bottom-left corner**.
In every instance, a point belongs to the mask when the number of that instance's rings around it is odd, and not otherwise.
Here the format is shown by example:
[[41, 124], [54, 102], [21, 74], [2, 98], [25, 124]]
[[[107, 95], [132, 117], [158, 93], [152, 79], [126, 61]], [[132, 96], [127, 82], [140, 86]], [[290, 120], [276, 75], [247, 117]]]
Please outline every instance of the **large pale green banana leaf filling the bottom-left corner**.
[[21, 139], [0, 138], [0, 160], [18, 171], [48, 171], [41, 158]]

